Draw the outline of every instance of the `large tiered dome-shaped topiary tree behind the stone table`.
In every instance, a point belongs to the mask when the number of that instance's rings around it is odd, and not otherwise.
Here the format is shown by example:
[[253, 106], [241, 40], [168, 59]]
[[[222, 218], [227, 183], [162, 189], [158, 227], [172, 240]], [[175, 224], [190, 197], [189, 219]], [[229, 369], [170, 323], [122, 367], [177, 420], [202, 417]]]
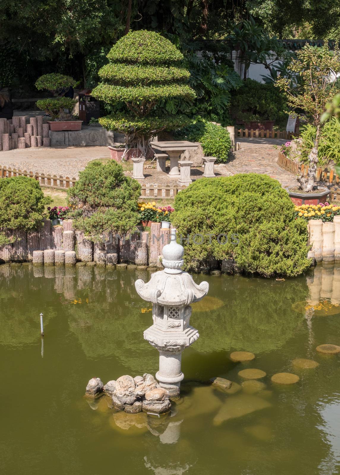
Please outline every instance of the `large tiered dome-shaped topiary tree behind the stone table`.
[[111, 48], [109, 64], [99, 70], [103, 80], [92, 95], [111, 106], [124, 105], [125, 111], [99, 119], [108, 130], [125, 135], [125, 152], [135, 149], [147, 157], [153, 135], [176, 129], [188, 118], [160, 112], [165, 100], [192, 101], [195, 92], [185, 83], [190, 73], [181, 66], [183, 55], [166, 38], [152, 31], [131, 31]]

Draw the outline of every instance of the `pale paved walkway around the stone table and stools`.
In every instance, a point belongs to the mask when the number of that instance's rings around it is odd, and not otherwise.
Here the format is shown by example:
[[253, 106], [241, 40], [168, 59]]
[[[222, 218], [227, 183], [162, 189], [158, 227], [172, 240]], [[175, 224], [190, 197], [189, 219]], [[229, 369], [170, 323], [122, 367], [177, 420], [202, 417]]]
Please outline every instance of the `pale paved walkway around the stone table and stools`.
[[[228, 163], [216, 165], [217, 176], [254, 172], [276, 178], [283, 186], [296, 185], [294, 175], [284, 171], [276, 163], [278, 151], [273, 144], [279, 145], [284, 141], [263, 139], [265, 142], [258, 143], [259, 140], [261, 139], [243, 139], [241, 150], [234, 152]], [[0, 152], [0, 165], [78, 178], [79, 171], [84, 170], [89, 161], [108, 157], [107, 147], [39, 147]], [[155, 166], [154, 162], [152, 168], [144, 169], [143, 183], [170, 186], [177, 183], [178, 178], [171, 179], [168, 174], [156, 171]], [[131, 176], [131, 172], [129, 175]], [[203, 167], [191, 171], [192, 180], [197, 180], [202, 175]]]

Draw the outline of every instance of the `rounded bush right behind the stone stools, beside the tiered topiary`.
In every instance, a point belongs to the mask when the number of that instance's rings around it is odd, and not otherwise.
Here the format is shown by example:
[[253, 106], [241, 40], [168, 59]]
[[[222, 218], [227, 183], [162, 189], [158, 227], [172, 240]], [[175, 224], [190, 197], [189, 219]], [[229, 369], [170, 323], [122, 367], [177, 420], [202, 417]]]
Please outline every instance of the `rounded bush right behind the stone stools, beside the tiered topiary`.
[[206, 157], [216, 157], [217, 163], [228, 160], [231, 139], [227, 129], [211, 122], [197, 122], [176, 131], [177, 140], [201, 142]]

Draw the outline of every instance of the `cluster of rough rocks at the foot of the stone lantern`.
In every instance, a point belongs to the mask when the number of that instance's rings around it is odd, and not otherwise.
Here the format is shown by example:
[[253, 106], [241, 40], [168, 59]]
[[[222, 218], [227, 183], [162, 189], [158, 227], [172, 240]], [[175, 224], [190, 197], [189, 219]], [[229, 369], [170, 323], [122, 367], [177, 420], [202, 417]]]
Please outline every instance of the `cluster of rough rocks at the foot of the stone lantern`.
[[161, 388], [149, 373], [135, 378], [124, 375], [105, 386], [99, 378], [89, 380], [85, 396], [95, 398], [103, 392], [112, 397], [114, 409], [130, 414], [141, 411], [163, 414], [171, 408], [169, 391]]

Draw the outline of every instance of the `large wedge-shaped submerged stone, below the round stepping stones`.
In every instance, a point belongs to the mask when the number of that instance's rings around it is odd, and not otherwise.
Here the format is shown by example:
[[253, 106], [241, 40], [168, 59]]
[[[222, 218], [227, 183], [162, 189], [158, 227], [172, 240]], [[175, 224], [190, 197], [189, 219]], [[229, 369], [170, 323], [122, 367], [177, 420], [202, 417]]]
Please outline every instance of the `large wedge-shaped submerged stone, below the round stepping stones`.
[[271, 404], [265, 399], [250, 394], [240, 394], [226, 400], [214, 417], [213, 424], [219, 426], [228, 419], [246, 416], [246, 414], [269, 407], [271, 407]]

